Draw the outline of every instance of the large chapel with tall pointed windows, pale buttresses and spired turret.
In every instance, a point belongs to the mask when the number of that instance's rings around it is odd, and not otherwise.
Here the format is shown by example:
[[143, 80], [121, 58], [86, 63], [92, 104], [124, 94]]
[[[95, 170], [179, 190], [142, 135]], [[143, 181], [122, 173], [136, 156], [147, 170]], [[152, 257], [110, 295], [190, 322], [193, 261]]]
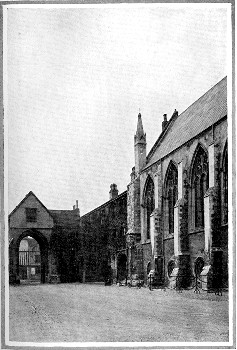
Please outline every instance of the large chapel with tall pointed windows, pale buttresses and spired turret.
[[[228, 276], [227, 79], [180, 115], [164, 115], [147, 154], [139, 113], [128, 185], [128, 278], [158, 284], [195, 273], [206, 287]], [[183, 276], [183, 277], [182, 277]], [[182, 278], [181, 278], [182, 277]], [[204, 283], [204, 282], [203, 282]], [[203, 287], [205, 287], [203, 286]]]

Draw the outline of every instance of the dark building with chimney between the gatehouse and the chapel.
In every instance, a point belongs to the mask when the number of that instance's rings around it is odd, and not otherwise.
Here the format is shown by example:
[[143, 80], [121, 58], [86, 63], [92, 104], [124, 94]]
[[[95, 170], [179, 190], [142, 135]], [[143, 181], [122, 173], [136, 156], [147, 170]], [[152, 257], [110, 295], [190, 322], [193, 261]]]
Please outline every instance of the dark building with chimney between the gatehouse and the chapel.
[[110, 186], [110, 199], [81, 217], [83, 281], [122, 281], [127, 277], [127, 191]]

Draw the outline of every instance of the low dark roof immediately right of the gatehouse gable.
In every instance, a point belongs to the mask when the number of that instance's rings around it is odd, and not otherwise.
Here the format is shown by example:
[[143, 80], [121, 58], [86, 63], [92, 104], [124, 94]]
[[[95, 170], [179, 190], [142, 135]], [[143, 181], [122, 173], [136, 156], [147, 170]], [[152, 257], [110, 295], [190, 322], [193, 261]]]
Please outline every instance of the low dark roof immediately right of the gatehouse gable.
[[79, 209], [74, 210], [49, 210], [55, 223], [59, 226], [74, 226], [80, 221]]

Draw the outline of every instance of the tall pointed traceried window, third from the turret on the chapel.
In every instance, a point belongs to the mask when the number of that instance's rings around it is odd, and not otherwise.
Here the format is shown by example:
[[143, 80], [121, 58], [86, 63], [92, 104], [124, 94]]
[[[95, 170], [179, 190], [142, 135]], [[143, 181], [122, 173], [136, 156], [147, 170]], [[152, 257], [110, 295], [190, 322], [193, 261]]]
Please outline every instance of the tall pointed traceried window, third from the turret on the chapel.
[[199, 146], [195, 155], [192, 172], [192, 206], [194, 227], [204, 227], [204, 195], [208, 189], [208, 157]]

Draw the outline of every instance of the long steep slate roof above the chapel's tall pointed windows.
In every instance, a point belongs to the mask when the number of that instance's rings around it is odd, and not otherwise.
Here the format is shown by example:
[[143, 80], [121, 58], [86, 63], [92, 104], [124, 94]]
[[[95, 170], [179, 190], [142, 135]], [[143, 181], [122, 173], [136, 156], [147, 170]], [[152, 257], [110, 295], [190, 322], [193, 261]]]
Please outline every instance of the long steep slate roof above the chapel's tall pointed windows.
[[208, 90], [169, 124], [147, 155], [144, 169], [227, 115], [227, 77]]

